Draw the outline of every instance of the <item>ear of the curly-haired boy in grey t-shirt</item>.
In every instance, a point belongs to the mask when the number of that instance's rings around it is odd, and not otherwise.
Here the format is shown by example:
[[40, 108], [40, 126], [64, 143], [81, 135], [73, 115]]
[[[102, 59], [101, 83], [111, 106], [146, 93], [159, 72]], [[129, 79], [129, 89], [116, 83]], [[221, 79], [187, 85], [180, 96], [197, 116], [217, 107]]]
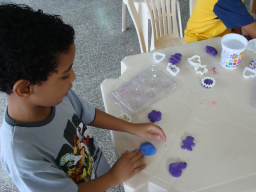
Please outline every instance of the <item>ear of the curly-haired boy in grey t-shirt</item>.
[[20, 79], [13, 86], [13, 92], [16, 96], [25, 99], [32, 94], [32, 88], [28, 80]]

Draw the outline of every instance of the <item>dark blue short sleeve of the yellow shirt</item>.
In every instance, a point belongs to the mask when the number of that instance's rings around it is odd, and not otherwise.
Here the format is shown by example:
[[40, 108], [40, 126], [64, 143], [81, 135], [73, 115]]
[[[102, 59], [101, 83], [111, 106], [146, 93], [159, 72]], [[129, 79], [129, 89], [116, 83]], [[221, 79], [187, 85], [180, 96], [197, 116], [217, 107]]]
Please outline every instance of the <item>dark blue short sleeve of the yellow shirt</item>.
[[228, 29], [255, 22], [242, 0], [218, 0], [214, 5], [213, 12]]

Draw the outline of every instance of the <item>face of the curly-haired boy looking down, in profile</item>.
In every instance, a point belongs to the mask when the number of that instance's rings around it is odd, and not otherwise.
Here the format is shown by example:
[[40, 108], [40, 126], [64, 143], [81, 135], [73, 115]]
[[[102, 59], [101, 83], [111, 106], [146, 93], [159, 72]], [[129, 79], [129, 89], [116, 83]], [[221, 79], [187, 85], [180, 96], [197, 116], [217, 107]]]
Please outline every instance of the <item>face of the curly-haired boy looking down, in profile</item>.
[[46, 82], [42, 85], [33, 86], [31, 101], [37, 106], [56, 106], [60, 104], [64, 96], [68, 95], [68, 90], [72, 88], [72, 82], [76, 79], [76, 75], [72, 69], [76, 53], [76, 46], [73, 43], [67, 54], [61, 54], [59, 65]]

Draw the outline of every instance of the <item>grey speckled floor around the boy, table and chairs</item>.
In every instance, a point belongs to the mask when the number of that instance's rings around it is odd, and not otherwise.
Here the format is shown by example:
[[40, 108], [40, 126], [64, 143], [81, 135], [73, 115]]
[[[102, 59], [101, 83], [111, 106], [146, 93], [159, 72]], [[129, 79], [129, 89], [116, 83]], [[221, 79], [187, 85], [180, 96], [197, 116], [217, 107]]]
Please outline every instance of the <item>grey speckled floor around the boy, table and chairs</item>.
[[[129, 55], [140, 54], [134, 24], [127, 14], [127, 31], [122, 32], [122, 0], [13, 0], [1, 1], [27, 4], [49, 14], [63, 16], [76, 30], [76, 58], [73, 89], [96, 108], [104, 110], [100, 84], [106, 78], [120, 76], [120, 61]], [[180, 0], [185, 29], [189, 17], [189, 1]], [[245, 0], [248, 2], [249, 0]], [[0, 93], [0, 123], [7, 106], [7, 97]], [[107, 160], [116, 161], [110, 132], [90, 127]], [[12, 179], [0, 164], [0, 192], [18, 192]], [[107, 192], [124, 192], [122, 184]]]

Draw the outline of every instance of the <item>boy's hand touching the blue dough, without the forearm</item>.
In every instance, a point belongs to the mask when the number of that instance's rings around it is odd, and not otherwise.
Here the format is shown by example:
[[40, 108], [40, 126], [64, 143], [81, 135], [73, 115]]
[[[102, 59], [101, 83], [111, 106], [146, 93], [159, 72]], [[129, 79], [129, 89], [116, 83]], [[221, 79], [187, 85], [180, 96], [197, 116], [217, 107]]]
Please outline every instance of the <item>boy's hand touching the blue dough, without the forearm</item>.
[[144, 160], [142, 153], [143, 152], [138, 149], [130, 153], [126, 150], [109, 171], [112, 179], [120, 184], [128, 180], [134, 174], [143, 170], [147, 165], [143, 164], [139, 166]]

